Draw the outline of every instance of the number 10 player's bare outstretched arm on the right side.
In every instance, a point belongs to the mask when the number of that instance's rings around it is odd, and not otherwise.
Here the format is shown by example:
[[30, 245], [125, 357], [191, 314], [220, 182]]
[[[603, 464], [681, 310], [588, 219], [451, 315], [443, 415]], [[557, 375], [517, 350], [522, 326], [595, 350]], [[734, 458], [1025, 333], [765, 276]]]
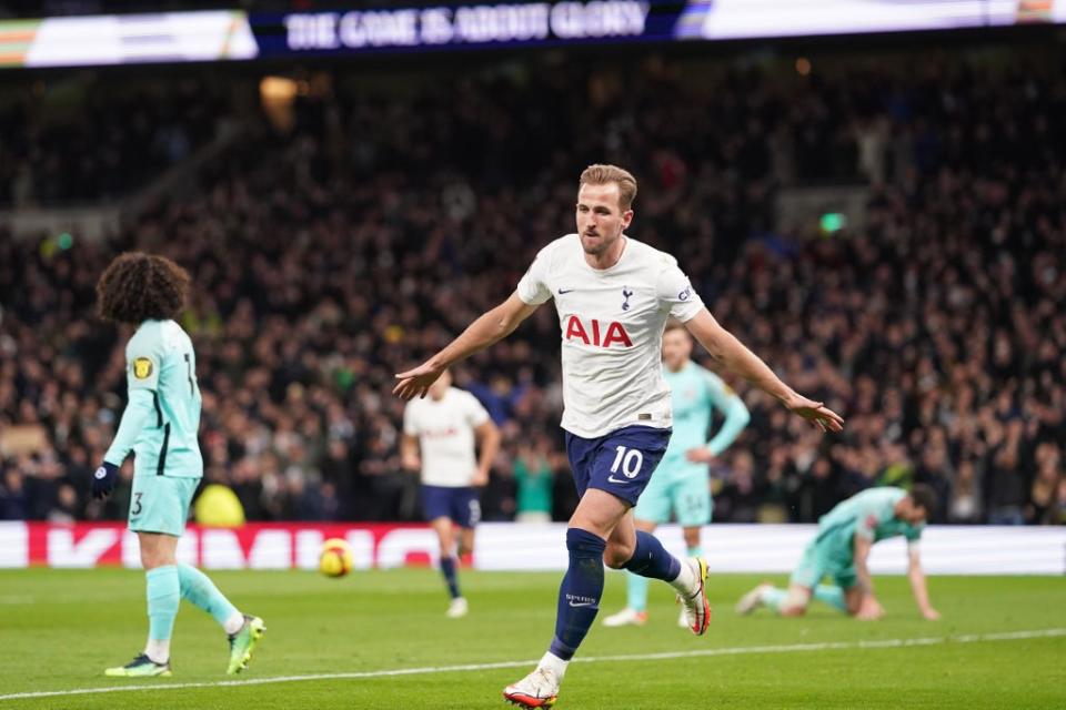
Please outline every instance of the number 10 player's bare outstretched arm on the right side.
[[766, 363], [723, 328], [706, 308], [686, 321], [685, 327], [706, 348], [711, 357], [781, 402], [793, 413], [814, 422], [823, 432], [839, 432], [844, 428], [841, 415], [821, 402], [807, 399], [783, 383]]

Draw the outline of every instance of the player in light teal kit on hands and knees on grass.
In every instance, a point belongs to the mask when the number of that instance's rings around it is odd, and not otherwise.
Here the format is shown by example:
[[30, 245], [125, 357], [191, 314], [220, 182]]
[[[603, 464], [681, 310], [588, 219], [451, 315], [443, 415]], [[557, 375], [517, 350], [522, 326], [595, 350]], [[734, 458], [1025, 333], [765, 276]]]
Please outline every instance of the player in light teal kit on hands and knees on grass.
[[[866, 560], [874, 542], [902, 535], [907, 539], [907, 577], [918, 610], [931, 621], [939, 619], [939, 612], [929, 606], [918, 558], [918, 539], [934, 509], [936, 494], [925, 484], [916, 484], [911, 493], [902, 488], [868, 488], [852, 496], [818, 520], [818, 535], [804, 550], [788, 590], [760, 585], [740, 600], [737, 612], [751, 613], [765, 606], [782, 616], [801, 616], [814, 597], [856, 619], [879, 619], [885, 610], [874, 596]], [[826, 576], [834, 584], [819, 584]]]

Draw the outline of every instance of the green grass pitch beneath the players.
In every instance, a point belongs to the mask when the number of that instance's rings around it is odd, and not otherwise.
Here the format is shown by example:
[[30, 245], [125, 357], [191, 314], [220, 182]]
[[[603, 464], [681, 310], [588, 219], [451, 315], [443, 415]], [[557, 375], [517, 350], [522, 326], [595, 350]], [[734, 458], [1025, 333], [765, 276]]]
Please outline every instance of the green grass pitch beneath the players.
[[[429, 569], [212, 578], [268, 626], [230, 684], [223, 633], [187, 602], [172, 678], [102, 676], [143, 647], [140, 572], [0, 572], [0, 710], [503, 708], [503, 686], [552, 636], [560, 575], [464, 570], [471, 613], [461, 620], [444, 618], [446, 597]], [[670, 589], [653, 586], [646, 627], [593, 628], [556, 708], [1066, 708], [1066, 579], [934, 578], [944, 615], [935, 623], [921, 620], [901, 577], [875, 580], [888, 611], [879, 622], [818, 606], [803, 619], [738, 618], [734, 601], [760, 580], [712, 577], [715, 616], [703, 638], [675, 626]], [[609, 574], [601, 616], [621, 608], [624, 587]], [[405, 669], [416, 670], [385, 674]], [[130, 686], [148, 688], [23, 694]]]

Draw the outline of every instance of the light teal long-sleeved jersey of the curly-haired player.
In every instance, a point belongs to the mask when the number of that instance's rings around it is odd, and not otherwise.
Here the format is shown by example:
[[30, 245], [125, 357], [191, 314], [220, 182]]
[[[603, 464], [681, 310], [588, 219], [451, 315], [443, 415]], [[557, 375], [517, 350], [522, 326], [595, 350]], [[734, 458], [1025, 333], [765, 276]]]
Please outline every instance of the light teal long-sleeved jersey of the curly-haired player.
[[189, 335], [173, 321], [144, 321], [125, 346], [129, 403], [104, 460], [132, 449], [134, 476], [200, 478], [200, 387]]

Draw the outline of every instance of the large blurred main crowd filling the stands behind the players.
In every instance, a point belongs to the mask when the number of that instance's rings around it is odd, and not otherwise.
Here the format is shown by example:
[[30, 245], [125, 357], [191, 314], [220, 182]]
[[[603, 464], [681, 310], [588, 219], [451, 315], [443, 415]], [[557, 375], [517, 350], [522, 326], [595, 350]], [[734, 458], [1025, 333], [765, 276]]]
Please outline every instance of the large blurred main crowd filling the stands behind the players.
[[[339, 80], [298, 99], [291, 130], [248, 125], [197, 196], [108, 244], [64, 251], [0, 225], [0, 427], [44, 433], [0, 463], [0, 518], [124, 516], [128, 486], [104, 505], [87, 496], [129, 335], [93, 317], [92, 288], [133, 247], [193, 275], [183, 325], [208, 480], [250, 519], [416, 518], [393, 373], [506, 297], [571, 229], [580, 170], [613, 161], [641, 180], [632, 234], [674, 253], [727, 327], [847, 417], [823, 437], [726, 375], [753, 419], [712, 464], [716, 520], [811, 521], [865, 487], [927, 481], [937, 521], [1064, 523], [1060, 69], [694, 81], [645, 59], [413, 97]], [[774, 231], [775, 190], [832, 180], [869, 183], [862, 229]], [[545, 497], [564, 519], [575, 500], [557, 327], [541, 308], [457, 368], [504, 432], [486, 519]]]

